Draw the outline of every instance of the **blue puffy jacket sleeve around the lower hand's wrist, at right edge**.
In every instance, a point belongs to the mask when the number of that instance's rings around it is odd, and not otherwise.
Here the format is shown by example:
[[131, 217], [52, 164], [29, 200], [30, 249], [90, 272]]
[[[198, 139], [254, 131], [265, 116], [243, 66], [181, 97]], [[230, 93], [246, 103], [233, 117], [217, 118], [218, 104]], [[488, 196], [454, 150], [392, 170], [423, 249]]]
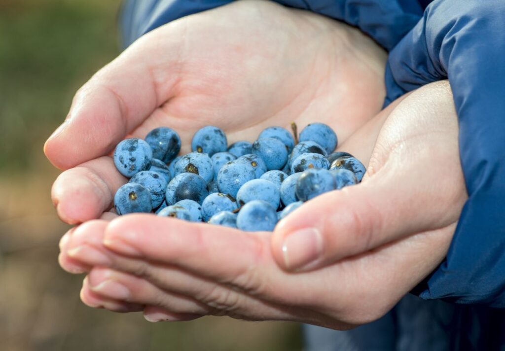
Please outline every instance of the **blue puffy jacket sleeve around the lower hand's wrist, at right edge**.
[[389, 55], [387, 102], [449, 79], [469, 199], [420, 296], [505, 308], [505, 2], [437, 0]]

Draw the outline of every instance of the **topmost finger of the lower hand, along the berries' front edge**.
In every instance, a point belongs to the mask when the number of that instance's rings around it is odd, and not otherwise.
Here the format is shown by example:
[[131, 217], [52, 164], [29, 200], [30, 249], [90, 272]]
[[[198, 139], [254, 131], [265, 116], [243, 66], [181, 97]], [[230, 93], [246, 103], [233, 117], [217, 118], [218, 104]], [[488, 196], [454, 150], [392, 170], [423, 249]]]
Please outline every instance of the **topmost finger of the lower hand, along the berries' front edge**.
[[[222, 278], [240, 276], [251, 263], [270, 255], [264, 250], [266, 237], [204, 223], [130, 215], [109, 223], [104, 245], [122, 255], [182, 265]], [[233, 265], [223, 264], [231, 262]]]

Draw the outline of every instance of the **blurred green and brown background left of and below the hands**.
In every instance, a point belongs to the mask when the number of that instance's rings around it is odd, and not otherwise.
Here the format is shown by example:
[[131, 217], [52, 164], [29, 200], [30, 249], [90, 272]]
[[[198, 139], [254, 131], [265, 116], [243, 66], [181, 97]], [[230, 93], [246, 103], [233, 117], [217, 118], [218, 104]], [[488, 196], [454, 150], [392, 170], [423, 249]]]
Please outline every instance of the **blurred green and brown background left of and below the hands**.
[[79, 300], [57, 263], [68, 226], [42, 153], [74, 92], [120, 52], [120, 0], [0, 0], [0, 350], [297, 350], [299, 325], [156, 323]]

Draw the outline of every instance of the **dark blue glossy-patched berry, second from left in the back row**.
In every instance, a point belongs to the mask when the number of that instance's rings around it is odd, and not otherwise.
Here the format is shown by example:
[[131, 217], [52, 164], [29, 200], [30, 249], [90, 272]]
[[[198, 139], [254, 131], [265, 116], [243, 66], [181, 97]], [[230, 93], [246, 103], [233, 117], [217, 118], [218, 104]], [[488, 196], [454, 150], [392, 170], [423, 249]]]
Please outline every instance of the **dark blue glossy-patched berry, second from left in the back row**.
[[172, 161], [181, 149], [181, 138], [171, 128], [159, 127], [151, 130], [145, 141], [153, 150], [153, 157], [165, 163]]

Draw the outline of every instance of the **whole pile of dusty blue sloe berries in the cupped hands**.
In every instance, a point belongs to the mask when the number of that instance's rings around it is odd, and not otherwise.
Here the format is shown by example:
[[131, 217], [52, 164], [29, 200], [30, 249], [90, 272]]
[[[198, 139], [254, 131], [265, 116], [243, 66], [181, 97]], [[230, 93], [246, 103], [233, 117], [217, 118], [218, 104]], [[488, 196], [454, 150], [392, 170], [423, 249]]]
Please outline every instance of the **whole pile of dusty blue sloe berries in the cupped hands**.
[[179, 135], [168, 127], [156, 128], [145, 141], [125, 139], [116, 147], [114, 163], [130, 178], [114, 196], [116, 212], [154, 211], [271, 231], [303, 202], [361, 181], [363, 164], [348, 153], [332, 153], [336, 145], [335, 132], [323, 123], [309, 124], [296, 143], [287, 129], [269, 127], [254, 143], [230, 146], [220, 128], [207, 126], [194, 134], [192, 152], [177, 156]]

